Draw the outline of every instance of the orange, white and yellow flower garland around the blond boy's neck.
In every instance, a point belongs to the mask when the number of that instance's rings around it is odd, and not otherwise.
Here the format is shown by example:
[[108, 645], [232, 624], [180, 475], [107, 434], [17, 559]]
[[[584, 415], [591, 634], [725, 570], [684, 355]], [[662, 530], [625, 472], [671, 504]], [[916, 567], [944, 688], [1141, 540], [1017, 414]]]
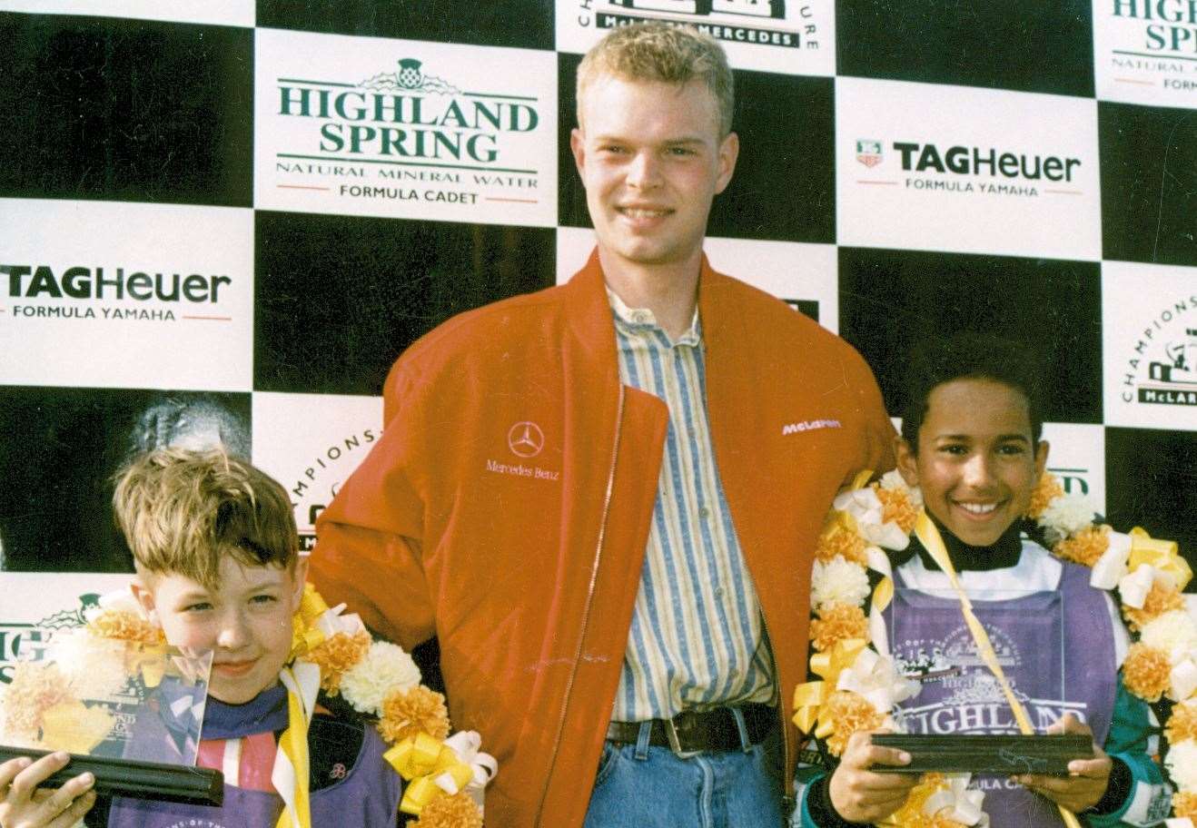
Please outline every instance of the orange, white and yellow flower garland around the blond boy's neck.
[[[345, 604], [329, 608], [311, 584], [304, 586], [292, 619], [291, 658], [281, 676], [292, 702], [305, 692], [314, 700], [318, 683], [327, 695], [342, 696], [358, 713], [375, 720], [389, 745], [383, 757], [407, 780], [400, 810], [419, 817], [413, 828], [481, 828], [482, 791], [498, 769], [494, 757], [481, 751], [481, 737], [474, 731], [449, 736], [445, 699], [420, 683], [412, 657], [395, 644], [375, 641], [361, 619], [344, 610]], [[144, 641], [162, 637], [128, 591], [102, 597], [99, 608], [89, 611], [87, 625], [104, 638]], [[305, 687], [309, 678], [311, 686]], [[297, 719], [311, 717], [310, 704], [300, 707], [306, 710], [303, 714], [292, 710], [291, 724], [280, 739], [274, 777], [275, 787], [296, 811], [296, 823], [304, 822], [300, 810], [306, 814], [306, 803], [298, 802], [306, 796], [291, 793], [306, 792], [305, 780], [294, 771], [306, 766], [306, 742], [296, 737], [290, 747], [285, 743], [297, 729]], [[299, 761], [292, 753], [302, 754]], [[285, 768], [282, 785], [280, 765]], [[280, 826], [292, 824], [285, 818], [286, 814]]]

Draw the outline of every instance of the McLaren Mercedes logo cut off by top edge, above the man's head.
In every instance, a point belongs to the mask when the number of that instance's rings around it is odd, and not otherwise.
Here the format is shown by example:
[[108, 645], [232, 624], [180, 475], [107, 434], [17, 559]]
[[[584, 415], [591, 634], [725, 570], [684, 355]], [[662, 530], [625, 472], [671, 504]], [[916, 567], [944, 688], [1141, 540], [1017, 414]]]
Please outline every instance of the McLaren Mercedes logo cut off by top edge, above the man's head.
[[646, 19], [691, 25], [717, 41], [818, 49], [810, 4], [796, 0], [576, 0], [581, 26], [614, 29]]

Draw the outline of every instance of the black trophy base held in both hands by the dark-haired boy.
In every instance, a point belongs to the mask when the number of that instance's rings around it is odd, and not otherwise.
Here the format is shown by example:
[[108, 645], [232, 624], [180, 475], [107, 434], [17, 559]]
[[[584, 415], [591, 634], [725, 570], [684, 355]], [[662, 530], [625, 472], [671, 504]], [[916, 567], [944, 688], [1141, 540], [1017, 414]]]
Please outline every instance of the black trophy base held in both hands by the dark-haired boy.
[[910, 754], [910, 765], [874, 765], [875, 773], [1021, 773], [1067, 777], [1074, 759], [1093, 759], [1093, 738], [1059, 736], [936, 736], [932, 733], [874, 733], [874, 744]]

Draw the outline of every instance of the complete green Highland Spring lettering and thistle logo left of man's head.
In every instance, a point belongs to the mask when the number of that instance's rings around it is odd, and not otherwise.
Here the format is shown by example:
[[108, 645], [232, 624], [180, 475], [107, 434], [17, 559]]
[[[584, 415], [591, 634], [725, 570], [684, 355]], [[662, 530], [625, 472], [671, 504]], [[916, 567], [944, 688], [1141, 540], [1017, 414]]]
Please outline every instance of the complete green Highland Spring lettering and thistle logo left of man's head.
[[[415, 57], [356, 83], [279, 78], [277, 95], [277, 116], [312, 121], [303, 144], [275, 153], [275, 172], [308, 182], [292, 189], [467, 206], [539, 200], [540, 171], [506, 162], [541, 129], [535, 96], [462, 90]], [[334, 190], [312, 177], [340, 182]], [[522, 193], [503, 197], [511, 190]]]

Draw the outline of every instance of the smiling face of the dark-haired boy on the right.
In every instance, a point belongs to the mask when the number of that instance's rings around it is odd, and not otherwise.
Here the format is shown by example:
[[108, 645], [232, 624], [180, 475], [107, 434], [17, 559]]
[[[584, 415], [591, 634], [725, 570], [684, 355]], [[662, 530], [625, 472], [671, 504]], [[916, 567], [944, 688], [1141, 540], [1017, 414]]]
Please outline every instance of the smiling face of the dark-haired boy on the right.
[[1031, 442], [1021, 391], [989, 379], [936, 385], [918, 430], [918, 451], [898, 442], [898, 468], [929, 511], [970, 546], [990, 546], [1031, 505], [1047, 444]]

